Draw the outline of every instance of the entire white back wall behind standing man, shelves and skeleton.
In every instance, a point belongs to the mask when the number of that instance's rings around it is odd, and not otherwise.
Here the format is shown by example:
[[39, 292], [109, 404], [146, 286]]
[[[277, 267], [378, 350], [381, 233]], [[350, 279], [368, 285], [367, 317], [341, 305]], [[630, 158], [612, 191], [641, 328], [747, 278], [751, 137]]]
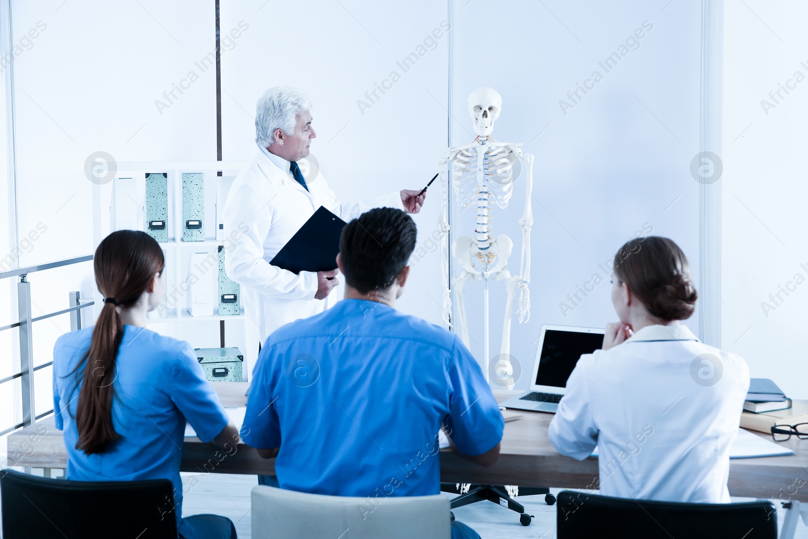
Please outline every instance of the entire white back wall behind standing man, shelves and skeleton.
[[[314, 99], [313, 154], [341, 200], [419, 188], [431, 178], [448, 144], [447, 37], [437, 38], [434, 49], [424, 40], [447, 19], [444, 2], [221, 3], [222, 36], [230, 35], [221, 58], [225, 160], [250, 158], [256, 99], [269, 86], [288, 84]], [[699, 4], [666, 4], [502, 2], [510, 15], [497, 18], [482, 2], [455, 2], [454, 143], [473, 138], [465, 98], [487, 85], [504, 100], [494, 136], [524, 142], [536, 155], [532, 317], [515, 322], [512, 339], [528, 369], [541, 324], [612, 320], [608, 276], [599, 264], [645, 223], [679, 242], [698, 270], [697, 183], [688, 169], [698, 151]], [[200, 9], [189, 0], [14, 2], [14, 10], [18, 35], [40, 20], [47, 24], [17, 58], [20, 230], [48, 226], [20, 261], [27, 264], [93, 250], [91, 184], [82, 170], [93, 152], [118, 161], [216, 158], [215, 74], [195, 64], [213, 51], [214, 19], [213, 5]], [[639, 48], [605, 73], [598, 61], [646, 20], [653, 29]], [[405, 73], [397, 62], [419, 45], [423, 57]], [[595, 69], [603, 80], [564, 114], [559, 100], [569, 100], [567, 91]], [[163, 91], [191, 71], [199, 79], [158, 110]], [[392, 71], [400, 80], [370, 102], [365, 92]], [[371, 107], [361, 110], [360, 99]], [[516, 184], [511, 207], [494, 221], [494, 232], [511, 235], [517, 248], [523, 188]], [[435, 186], [415, 216], [418, 263], [400, 302], [436, 323], [440, 259], [431, 234], [439, 199]], [[467, 228], [458, 221], [456, 233], [469, 234]], [[518, 250], [510, 267], [518, 267]], [[594, 273], [604, 284], [579, 305], [569, 303], [567, 294]], [[86, 295], [95, 288], [88, 263], [59, 275], [32, 279], [42, 312], [63, 308], [67, 288]], [[478, 329], [477, 285], [469, 286], [469, 313]], [[562, 301], [574, 306], [566, 317]], [[503, 302], [501, 286], [492, 286], [492, 356]], [[696, 317], [688, 322], [693, 328]], [[66, 317], [40, 325], [37, 354], [45, 360], [69, 326]], [[479, 346], [474, 353], [482, 356]], [[523, 377], [517, 387], [526, 385]]]

